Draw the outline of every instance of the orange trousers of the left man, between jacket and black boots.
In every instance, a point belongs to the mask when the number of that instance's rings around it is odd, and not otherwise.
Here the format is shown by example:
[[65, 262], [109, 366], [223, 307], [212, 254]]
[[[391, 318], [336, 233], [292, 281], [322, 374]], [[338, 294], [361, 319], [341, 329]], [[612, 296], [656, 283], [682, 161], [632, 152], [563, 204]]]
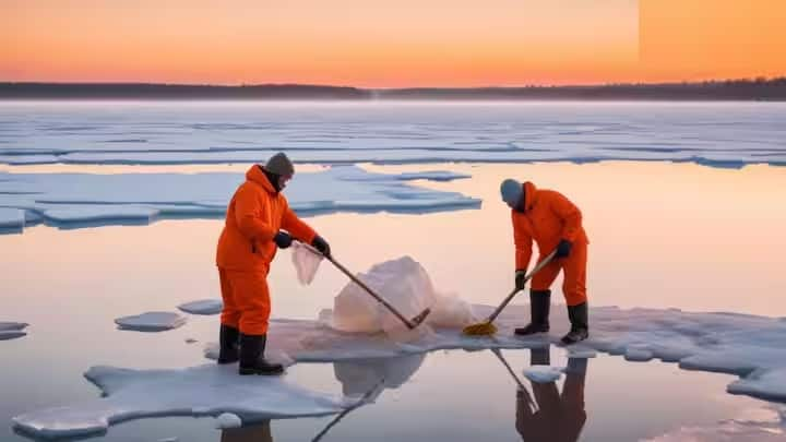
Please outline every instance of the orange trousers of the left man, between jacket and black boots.
[[227, 271], [226, 274], [231, 285], [233, 301], [240, 313], [240, 333], [267, 334], [271, 311], [267, 272]]

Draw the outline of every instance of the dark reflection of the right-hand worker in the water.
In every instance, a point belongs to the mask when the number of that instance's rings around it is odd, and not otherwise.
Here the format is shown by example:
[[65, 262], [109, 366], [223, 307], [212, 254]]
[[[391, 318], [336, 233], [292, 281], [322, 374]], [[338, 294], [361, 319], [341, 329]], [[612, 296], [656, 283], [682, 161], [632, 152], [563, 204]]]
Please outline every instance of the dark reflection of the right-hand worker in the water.
[[[532, 350], [532, 365], [549, 365], [549, 349]], [[526, 390], [516, 392], [516, 431], [524, 442], [575, 442], [586, 422], [584, 379], [586, 359], [569, 359], [562, 394], [557, 382], [532, 382], [535, 403]], [[537, 405], [537, 409], [535, 406]]]

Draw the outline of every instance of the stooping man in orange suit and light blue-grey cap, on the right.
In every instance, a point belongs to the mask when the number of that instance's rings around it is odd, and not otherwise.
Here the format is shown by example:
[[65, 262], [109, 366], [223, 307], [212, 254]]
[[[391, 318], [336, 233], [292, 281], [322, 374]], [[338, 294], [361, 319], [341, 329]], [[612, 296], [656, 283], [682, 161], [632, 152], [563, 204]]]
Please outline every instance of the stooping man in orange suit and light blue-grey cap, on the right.
[[540, 251], [538, 262], [551, 251], [555, 259], [533, 276], [529, 290], [531, 322], [516, 328], [517, 335], [549, 331], [551, 284], [563, 272], [562, 294], [568, 304], [570, 332], [562, 343], [574, 344], [590, 336], [586, 297], [587, 236], [582, 214], [564, 195], [553, 190], [537, 189], [532, 182], [513, 179], [502, 181], [502, 201], [511, 207], [515, 242], [515, 284], [524, 288], [526, 268], [535, 241]]

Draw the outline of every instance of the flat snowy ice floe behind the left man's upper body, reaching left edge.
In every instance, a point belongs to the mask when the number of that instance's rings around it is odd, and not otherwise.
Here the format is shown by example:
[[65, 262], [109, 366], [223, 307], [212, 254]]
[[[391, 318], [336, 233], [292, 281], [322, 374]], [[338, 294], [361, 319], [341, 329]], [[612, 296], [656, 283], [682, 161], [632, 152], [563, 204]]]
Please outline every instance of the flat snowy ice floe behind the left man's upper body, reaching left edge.
[[[259, 158], [258, 158], [259, 159]], [[427, 172], [443, 176], [450, 172]], [[408, 179], [419, 178], [417, 174]], [[221, 217], [243, 174], [0, 172], [0, 232], [46, 223], [62, 228]], [[480, 200], [409, 186], [397, 175], [335, 166], [298, 174], [285, 194], [299, 215], [426, 213], [477, 208]]]

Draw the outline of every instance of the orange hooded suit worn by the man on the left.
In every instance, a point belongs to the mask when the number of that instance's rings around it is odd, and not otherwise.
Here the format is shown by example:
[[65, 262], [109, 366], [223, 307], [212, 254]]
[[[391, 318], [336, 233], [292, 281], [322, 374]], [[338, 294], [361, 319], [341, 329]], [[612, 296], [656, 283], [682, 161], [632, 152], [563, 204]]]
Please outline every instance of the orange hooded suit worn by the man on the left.
[[286, 198], [273, 188], [262, 167], [251, 166], [246, 182], [229, 202], [218, 239], [222, 324], [248, 335], [267, 333], [271, 301], [266, 277], [276, 253], [273, 237], [279, 229], [306, 243], [317, 236], [289, 208]]

